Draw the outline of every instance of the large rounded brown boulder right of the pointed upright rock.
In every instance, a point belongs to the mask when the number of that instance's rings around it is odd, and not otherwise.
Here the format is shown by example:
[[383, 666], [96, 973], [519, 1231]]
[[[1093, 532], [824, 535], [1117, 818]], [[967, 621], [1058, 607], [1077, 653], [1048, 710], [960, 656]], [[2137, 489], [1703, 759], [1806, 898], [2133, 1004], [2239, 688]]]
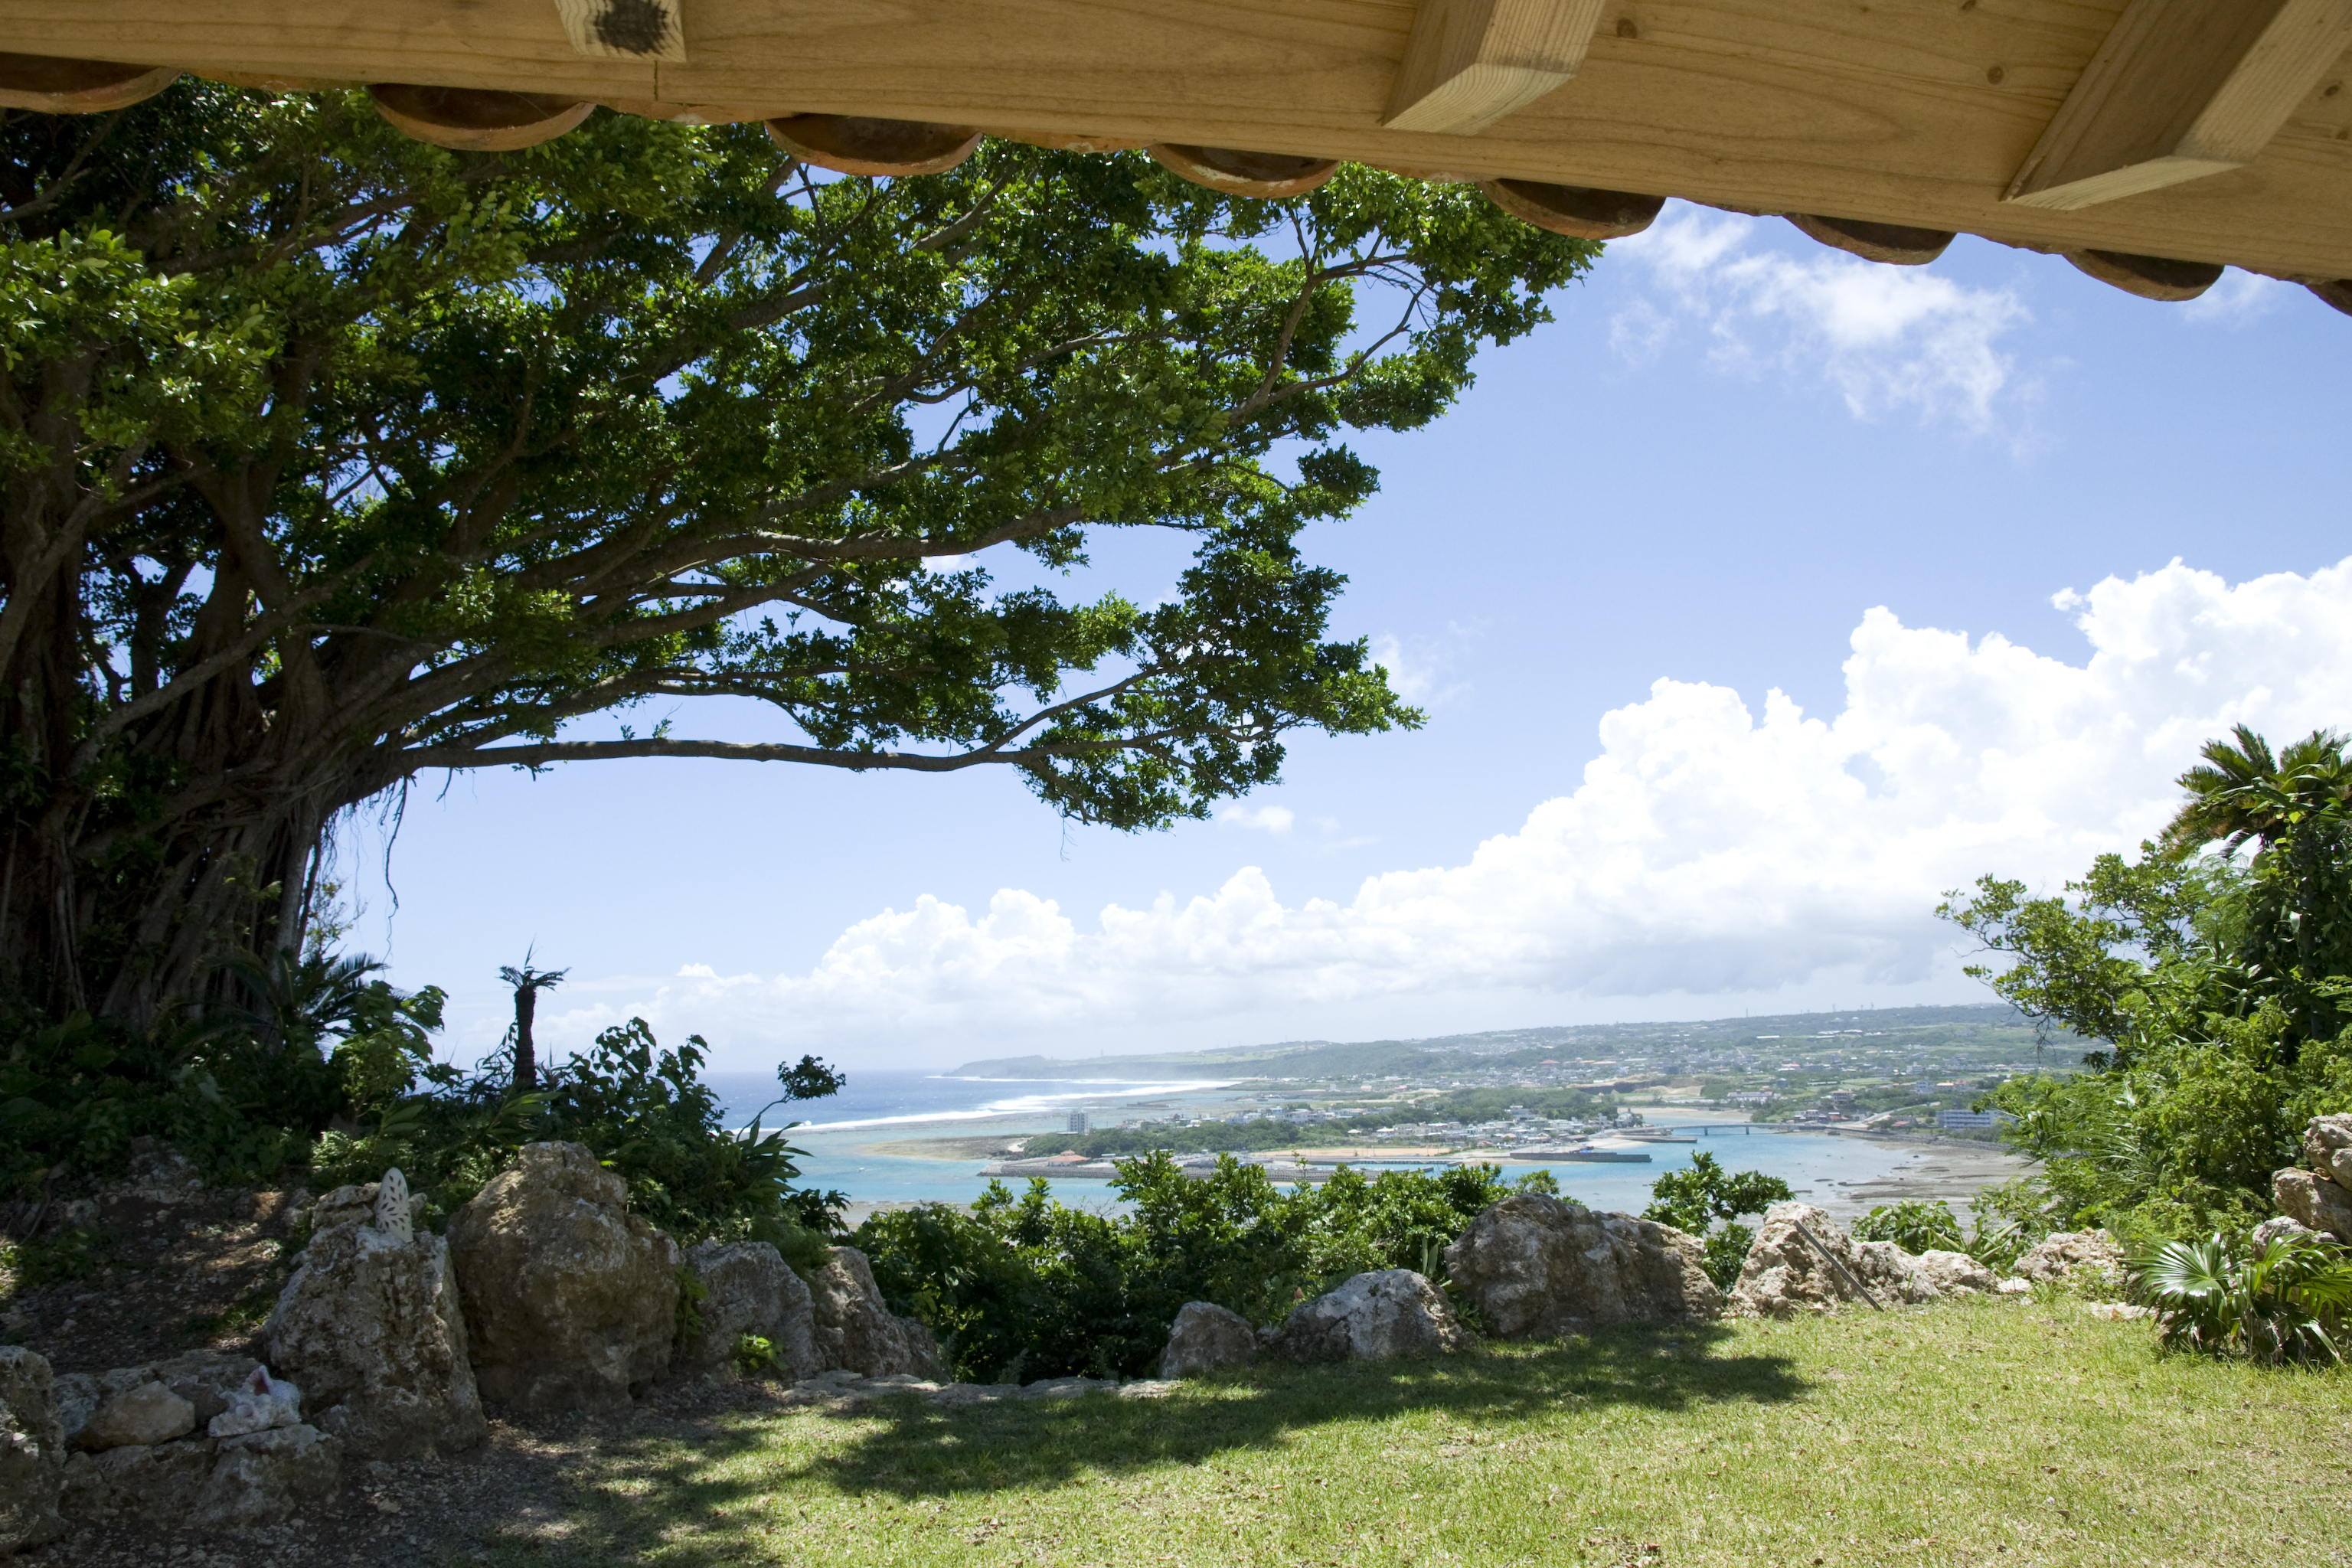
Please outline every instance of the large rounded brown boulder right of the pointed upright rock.
[[524, 1410], [612, 1408], [677, 1331], [677, 1244], [576, 1143], [532, 1143], [449, 1220], [473, 1375]]

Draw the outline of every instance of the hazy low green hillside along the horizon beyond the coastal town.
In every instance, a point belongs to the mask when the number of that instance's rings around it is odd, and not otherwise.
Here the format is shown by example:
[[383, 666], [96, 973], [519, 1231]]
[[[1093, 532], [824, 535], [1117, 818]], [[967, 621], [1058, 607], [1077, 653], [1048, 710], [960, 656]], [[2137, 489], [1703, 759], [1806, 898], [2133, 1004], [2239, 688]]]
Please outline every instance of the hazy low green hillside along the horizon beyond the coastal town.
[[974, 1079], [1087, 1079], [1117, 1074], [1122, 1079], [1235, 1079], [1235, 1077], [1348, 1077], [1388, 1072], [1442, 1072], [1446, 1060], [1501, 1067], [1559, 1063], [1606, 1063], [1621, 1053], [1717, 1051], [1757, 1039], [1804, 1039], [1830, 1032], [1867, 1030], [1882, 1041], [1940, 1046], [1962, 1039], [1994, 1046], [2011, 1037], [2032, 1048], [2032, 1023], [2016, 1009], [1992, 1001], [1973, 1006], [1900, 1006], [1856, 1013], [1771, 1013], [1762, 1018], [1705, 1018], [1696, 1023], [1583, 1023], [1548, 1030], [1489, 1030], [1486, 1034], [1439, 1034], [1430, 1039], [1329, 1041], [1291, 1039], [1270, 1046], [1232, 1046], [1225, 1051], [1160, 1051], [1150, 1056], [1004, 1056], [964, 1063], [955, 1077]]

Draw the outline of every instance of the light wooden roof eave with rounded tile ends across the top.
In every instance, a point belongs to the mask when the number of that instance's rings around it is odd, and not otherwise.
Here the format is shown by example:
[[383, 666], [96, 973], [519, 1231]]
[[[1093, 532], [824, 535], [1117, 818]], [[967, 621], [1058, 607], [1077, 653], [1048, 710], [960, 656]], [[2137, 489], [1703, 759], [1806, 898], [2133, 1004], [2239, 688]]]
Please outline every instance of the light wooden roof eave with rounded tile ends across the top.
[[[0, 0], [0, 38], [127, 75], [395, 85], [388, 115], [454, 146], [532, 132], [435, 134], [416, 103], [506, 110], [428, 89], [536, 94], [541, 129], [588, 101], [1007, 127], [1244, 193], [1357, 160], [1611, 212], [1679, 195], [1882, 261], [1938, 233], [2063, 252], [2157, 299], [2225, 263], [2331, 303], [2352, 277], [2352, 0]], [[28, 101], [9, 87], [0, 56], [0, 101]], [[1247, 190], [1268, 155], [1305, 174]]]

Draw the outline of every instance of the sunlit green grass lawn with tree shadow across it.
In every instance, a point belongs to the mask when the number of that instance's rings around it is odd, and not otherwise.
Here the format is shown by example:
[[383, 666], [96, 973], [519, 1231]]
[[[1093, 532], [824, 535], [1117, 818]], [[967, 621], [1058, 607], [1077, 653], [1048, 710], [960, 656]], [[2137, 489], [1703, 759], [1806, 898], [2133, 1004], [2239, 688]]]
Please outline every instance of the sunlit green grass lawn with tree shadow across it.
[[2352, 1563], [2352, 1378], [1971, 1300], [649, 1422], [541, 1502], [489, 1561]]

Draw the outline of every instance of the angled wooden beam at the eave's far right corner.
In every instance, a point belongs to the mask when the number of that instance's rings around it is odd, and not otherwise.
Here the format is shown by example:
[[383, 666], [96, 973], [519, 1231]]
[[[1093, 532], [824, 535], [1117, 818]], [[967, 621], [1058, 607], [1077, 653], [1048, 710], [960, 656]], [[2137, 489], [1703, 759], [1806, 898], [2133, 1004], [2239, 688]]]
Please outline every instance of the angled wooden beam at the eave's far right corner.
[[2131, 0], [2006, 200], [2072, 212], [2241, 169], [2352, 47], [2352, 0]]

